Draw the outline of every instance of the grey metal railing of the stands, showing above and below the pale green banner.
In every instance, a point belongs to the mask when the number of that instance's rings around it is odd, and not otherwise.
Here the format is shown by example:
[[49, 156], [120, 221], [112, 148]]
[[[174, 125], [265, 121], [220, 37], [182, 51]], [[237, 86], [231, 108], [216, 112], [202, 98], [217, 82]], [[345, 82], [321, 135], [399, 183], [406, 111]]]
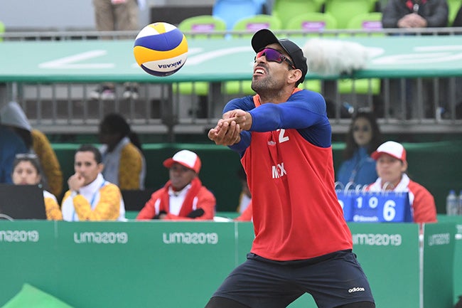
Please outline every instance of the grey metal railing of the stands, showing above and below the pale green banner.
[[[278, 31], [275, 31], [278, 32]], [[383, 29], [385, 34], [417, 36], [454, 36], [462, 28], [427, 28], [419, 31]], [[215, 32], [217, 34], [220, 32]], [[2, 33], [4, 41], [68, 41], [134, 38], [136, 31], [50, 31]], [[185, 33], [194, 36], [203, 33]], [[227, 34], [248, 34], [223, 32]], [[303, 34], [303, 31], [279, 31], [284, 36]], [[326, 30], [319, 36], [373, 35], [358, 30]], [[312, 35], [312, 33], [311, 33]], [[312, 37], [312, 36], [310, 36]], [[385, 133], [460, 133], [462, 132], [462, 78], [415, 78], [414, 80], [382, 79], [380, 93], [372, 91], [340, 93], [336, 80], [320, 80], [321, 93], [328, 102], [329, 117], [334, 133], [347, 132], [352, 112], [368, 108], [376, 112]], [[193, 83], [190, 94], [182, 94], [178, 84], [139, 84], [139, 97], [124, 99], [124, 84], [116, 84], [114, 100], [93, 100], [90, 92], [95, 83], [6, 83], [0, 89], [3, 100], [16, 100], [25, 110], [33, 127], [46, 133], [95, 133], [107, 112], [121, 112], [136, 132], [196, 134], [213, 127], [222, 107], [243, 93], [221, 93], [221, 101], [211, 100], [210, 92], [198, 92], [200, 83]], [[219, 88], [219, 87], [218, 87]], [[415, 93], [412, 104], [407, 88]], [[210, 87], [211, 89], [211, 87]], [[217, 87], [214, 87], [215, 91]], [[333, 90], [332, 90], [333, 89]], [[444, 104], [441, 104], [444, 102]]]

